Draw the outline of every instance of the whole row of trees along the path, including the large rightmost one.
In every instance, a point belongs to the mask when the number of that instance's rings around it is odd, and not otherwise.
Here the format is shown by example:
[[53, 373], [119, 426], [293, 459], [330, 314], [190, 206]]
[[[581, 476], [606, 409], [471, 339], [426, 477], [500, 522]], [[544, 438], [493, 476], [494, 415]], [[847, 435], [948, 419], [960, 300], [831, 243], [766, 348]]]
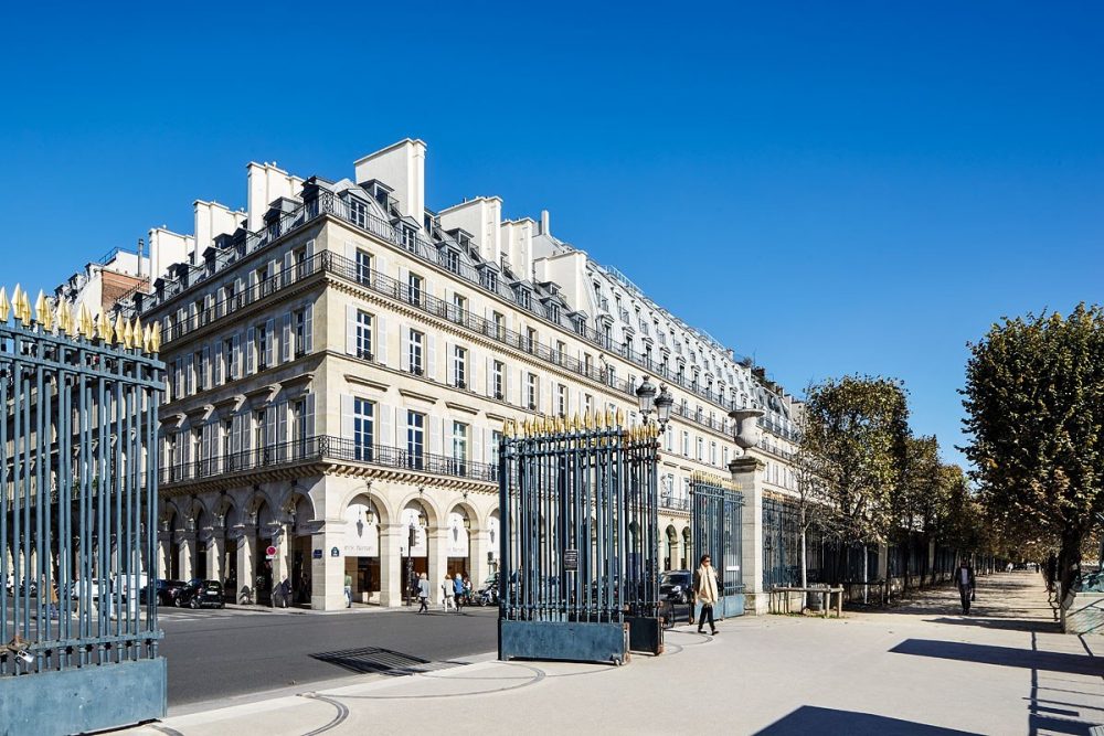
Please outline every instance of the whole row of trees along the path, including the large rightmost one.
[[[795, 459], [802, 576], [814, 524], [843, 543], [914, 535], [1007, 558], [1057, 558], [1069, 590], [1104, 534], [1104, 310], [1004, 319], [969, 345], [969, 473], [914, 436], [900, 381], [810, 385]], [[907, 579], [907, 575], [905, 576]]]

